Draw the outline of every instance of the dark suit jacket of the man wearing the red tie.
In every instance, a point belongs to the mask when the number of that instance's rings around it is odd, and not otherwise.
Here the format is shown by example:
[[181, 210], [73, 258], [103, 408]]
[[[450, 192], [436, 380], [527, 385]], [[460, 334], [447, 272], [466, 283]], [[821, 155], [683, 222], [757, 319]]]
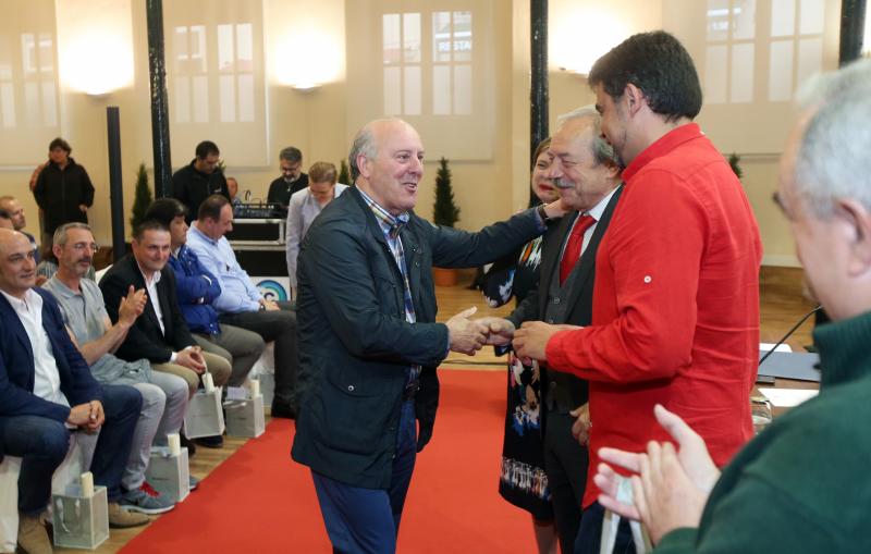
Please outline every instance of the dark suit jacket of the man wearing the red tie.
[[[576, 269], [577, 275], [575, 278], [575, 286], [568, 291], [568, 296], [562, 299], [571, 306], [568, 313], [566, 313], [565, 323], [586, 327], [592, 322], [592, 290], [596, 276], [596, 253], [599, 250], [599, 243], [602, 241], [602, 236], [608, 230], [611, 216], [614, 213], [614, 208], [617, 206], [622, 193], [623, 186], [621, 185], [611, 196], [611, 200], [602, 212], [602, 217], [596, 224], [596, 229], [590, 237], [590, 243], [578, 260], [579, 267]], [[562, 218], [559, 222], [549, 225], [541, 247], [541, 266], [539, 267], [538, 286], [532, 288], [526, 298], [511, 312], [511, 316], [508, 316], [508, 320], [514, 323], [515, 328], [519, 328], [524, 321], [541, 321], [544, 319], [551, 279], [555, 271], [560, 271], [563, 243], [565, 242], [566, 235], [572, 231], [572, 223], [577, 219], [577, 216], [578, 213], [575, 212], [574, 216]], [[542, 371], [542, 381], [544, 384], [541, 387], [544, 394], [547, 394], [548, 391], [548, 379], [550, 379], [550, 373], [545, 369]], [[573, 406], [577, 407], [587, 403], [589, 395], [587, 381], [569, 373], [560, 373], [553, 376], [553, 379], [571, 382], [569, 390], [572, 391]]]

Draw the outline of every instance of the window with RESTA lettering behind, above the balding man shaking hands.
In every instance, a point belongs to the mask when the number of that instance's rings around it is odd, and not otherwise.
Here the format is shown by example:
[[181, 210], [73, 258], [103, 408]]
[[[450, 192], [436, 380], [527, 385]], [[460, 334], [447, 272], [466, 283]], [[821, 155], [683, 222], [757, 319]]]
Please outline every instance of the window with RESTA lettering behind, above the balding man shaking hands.
[[471, 11], [383, 14], [385, 114], [471, 114]]

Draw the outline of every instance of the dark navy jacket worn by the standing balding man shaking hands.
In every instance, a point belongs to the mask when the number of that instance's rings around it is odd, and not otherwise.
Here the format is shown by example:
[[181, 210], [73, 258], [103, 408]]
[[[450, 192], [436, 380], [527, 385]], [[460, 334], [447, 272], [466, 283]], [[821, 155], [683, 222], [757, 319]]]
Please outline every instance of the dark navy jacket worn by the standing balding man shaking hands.
[[400, 235], [417, 319], [410, 324], [400, 270], [358, 189], [330, 202], [299, 254], [293, 458], [344, 483], [388, 488], [409, 365], [424, 367], [415, 398], [418, 450], [436, 420], [436, 367], [447, 355], [449, 336], [447, 327], [434, 322], [433, 264], [481, 266], [540, 234], [540, 225], [532, 210], [477, 233], [413, 213]]

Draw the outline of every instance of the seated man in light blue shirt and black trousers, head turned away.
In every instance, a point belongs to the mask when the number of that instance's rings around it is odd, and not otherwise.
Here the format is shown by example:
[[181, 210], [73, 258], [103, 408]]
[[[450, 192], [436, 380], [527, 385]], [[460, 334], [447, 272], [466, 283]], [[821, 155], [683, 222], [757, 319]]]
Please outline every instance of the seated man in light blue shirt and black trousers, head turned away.
[[197, 220], [187, 232], [187, 247], [207, 271], [218, 278], [221, 294], [212, 306], [221, 324], [254, 331], [265, 341], [275, 342], [275, 396], [272, 417], [296, 416], [297, 369], [296, 311], [292, 303], [263, 298], [248, 273], [242, 269], [224, 234], [233, 229], [233, 207], [221, 195], [206, 198]]

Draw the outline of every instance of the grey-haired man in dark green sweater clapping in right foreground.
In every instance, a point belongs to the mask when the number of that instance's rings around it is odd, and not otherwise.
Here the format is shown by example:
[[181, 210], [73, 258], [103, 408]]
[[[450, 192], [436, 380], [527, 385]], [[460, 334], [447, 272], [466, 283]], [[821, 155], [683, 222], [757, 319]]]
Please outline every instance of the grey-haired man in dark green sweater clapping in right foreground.
[[[814, 331], [820, 395], [774, 421], [723, 469], [662, 406], [674, 438], [647, 453], [602, 448], [600, 502], [641, 519], [657, 553], [871, 552], [871, 60], [813, 83], [783, 155], [775, 200], [833, 322]], [[625, 490], [625, 484], [623, 485]]]

